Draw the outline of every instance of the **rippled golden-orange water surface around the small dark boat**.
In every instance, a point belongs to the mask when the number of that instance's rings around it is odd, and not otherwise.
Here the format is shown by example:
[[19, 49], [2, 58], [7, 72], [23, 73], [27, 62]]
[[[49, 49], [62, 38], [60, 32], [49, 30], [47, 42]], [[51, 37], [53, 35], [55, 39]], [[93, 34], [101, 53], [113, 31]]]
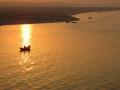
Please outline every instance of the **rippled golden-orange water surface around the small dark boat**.
[[[0, 90], [119, 90], [120, 11], [76, 16], [0, 26]], [[24, 44], [31, 52], [19, 52]]]

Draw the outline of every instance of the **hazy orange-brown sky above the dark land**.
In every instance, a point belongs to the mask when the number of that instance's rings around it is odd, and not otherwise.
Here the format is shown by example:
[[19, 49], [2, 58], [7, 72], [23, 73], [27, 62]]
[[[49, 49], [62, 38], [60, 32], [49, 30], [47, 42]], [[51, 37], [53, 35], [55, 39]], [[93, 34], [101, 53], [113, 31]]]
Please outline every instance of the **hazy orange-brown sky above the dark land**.
[[119, 6], [120, 0], [0, 0], [1, 5]]

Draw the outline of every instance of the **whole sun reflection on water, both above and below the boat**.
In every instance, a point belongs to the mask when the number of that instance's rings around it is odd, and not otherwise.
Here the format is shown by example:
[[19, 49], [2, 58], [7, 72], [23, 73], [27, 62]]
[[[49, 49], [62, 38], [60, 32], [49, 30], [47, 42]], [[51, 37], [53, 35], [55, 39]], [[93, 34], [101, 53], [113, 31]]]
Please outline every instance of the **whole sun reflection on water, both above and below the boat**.
[[[32, 26], [30, 24], [23, 24], [20, 26], [21, 45], [31, 45], [32, 38]], [[21, 52], [18, 64], [21, 67], [23, 73], [31, 71], [34, 68], [34, 62], [31, 60], [30, 52]]]

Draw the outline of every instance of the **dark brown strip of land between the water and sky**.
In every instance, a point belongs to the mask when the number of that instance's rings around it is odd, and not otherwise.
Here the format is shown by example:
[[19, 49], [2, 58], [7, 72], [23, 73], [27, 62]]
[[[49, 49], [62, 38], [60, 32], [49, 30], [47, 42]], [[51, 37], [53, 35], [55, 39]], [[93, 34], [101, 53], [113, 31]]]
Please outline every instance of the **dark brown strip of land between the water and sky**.
[[115, 11], [118, 7], [19, 7], [0, 8], [0, 25], [79, 21], [79, 13]]

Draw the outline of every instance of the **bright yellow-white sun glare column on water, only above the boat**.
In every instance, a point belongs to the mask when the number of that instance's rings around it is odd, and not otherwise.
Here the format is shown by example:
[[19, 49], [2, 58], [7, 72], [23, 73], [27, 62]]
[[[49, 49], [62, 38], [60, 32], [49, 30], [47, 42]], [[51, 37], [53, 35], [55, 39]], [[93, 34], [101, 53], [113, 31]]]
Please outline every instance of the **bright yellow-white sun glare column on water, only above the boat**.
[[31, 45], [31, 25], [23, 24], [21, 25], [21, 37], [22, 37], [22, 46]]

